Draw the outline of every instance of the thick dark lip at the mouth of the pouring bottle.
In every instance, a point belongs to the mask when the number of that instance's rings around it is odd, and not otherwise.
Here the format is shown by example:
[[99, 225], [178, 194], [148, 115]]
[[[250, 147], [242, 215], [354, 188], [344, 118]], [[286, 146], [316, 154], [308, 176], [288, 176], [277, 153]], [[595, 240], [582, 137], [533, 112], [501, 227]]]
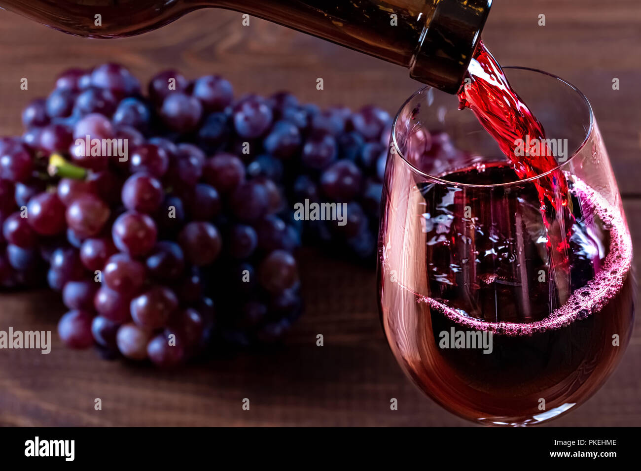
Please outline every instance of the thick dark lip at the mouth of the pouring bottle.
[[449, 94], [460, 90], [492, 0], [433, 0], [410, 77]]

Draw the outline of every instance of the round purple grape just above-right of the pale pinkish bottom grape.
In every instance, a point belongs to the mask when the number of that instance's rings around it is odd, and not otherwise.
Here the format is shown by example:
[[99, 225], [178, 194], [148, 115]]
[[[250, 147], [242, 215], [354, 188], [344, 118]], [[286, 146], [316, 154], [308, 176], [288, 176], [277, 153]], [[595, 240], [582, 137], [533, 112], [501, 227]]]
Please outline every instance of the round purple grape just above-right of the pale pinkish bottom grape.
[[165, 286], [154, 286], [131, 300], [131, 318], [147, 330], [163, 327], [178, 309], [176, 294]]

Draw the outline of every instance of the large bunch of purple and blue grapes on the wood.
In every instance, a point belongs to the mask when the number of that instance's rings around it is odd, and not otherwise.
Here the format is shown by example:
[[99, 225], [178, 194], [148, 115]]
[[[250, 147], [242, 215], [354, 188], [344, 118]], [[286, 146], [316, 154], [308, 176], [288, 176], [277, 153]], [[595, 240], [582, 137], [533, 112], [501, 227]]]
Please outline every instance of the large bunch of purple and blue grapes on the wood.
[[[375, 252], [390, 117], [374, 106], [235, 98], [176, 70], [143, 94], [108, 63], [63, 72], [22, 122], [0, 139], [0, 286], [62, 293], [69, 347], [171, 367], [273, 342], [302, 311], [303, 238]], [[297, 220], [306, 199], [345, 203], [345, 224]]]

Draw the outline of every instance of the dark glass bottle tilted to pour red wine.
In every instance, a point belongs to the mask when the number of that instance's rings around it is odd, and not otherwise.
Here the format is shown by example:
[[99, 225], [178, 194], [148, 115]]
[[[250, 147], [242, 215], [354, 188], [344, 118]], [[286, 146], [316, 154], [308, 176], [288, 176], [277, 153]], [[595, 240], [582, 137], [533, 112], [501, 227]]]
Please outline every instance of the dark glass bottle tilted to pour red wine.
[[93, 38], [144, 33], [207, 6], [237, 10], [403, 65], [412, 78], [449, 93], [460, 88], [491, 4], [492, 0], [0, 0], [6, 10]]

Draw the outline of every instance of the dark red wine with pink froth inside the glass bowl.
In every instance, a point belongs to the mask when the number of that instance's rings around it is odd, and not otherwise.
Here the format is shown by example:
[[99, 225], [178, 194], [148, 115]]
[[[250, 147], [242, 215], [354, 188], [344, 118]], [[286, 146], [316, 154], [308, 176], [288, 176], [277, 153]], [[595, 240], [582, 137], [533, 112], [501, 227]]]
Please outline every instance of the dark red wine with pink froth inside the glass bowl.
[[[495, 185], [515, 181], [514, 172], [495, 163], [445, 178]], [[564, 177], [576, 221], [569, 286], [539, 276], [548, 254], [531, 182], [518, 194], [496, 186], [492, 198], [482, 186], [419, 184], [426, 206], [437, 208], [422, 231], [428, 279], [394, 281], [383, 252], [381, 313], [392, 350], [413, 381], [457, 415], [511, 425], [556, 417], [592, 395], [625, 350], [634, 291], [628, 228], [619, 208]], [[486, 345], [458, 348], [456, 336]]]

